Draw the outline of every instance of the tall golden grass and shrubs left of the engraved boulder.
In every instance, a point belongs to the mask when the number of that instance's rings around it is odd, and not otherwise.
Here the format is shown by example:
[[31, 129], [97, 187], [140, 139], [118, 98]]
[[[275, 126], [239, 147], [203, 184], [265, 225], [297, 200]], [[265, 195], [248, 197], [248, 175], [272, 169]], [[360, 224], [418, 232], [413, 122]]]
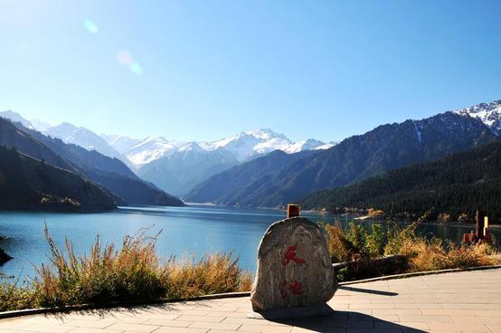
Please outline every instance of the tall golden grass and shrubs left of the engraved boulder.
[[45, 228], [51, 261], [36, 267], [33, 280], [0, 277], [0, 311], [112, 302], [147, 303], [251, 289], [251, 274], [232, 253], [214, 253], [198, 261], [156, 253], [156, 236], [126, 236], [118, 248], [99, 237], [89, 254], [78, 255], [70, 241], [59, 249]]

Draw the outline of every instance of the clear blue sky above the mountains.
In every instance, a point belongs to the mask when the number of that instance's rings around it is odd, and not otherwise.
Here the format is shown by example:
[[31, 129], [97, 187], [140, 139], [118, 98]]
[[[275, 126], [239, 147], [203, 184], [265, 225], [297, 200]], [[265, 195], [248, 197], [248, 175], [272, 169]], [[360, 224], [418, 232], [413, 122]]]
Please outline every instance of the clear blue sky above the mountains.
[[0, 110], [133, 138], [341, 140], [501, 100], [501, 1], [0, 0]]

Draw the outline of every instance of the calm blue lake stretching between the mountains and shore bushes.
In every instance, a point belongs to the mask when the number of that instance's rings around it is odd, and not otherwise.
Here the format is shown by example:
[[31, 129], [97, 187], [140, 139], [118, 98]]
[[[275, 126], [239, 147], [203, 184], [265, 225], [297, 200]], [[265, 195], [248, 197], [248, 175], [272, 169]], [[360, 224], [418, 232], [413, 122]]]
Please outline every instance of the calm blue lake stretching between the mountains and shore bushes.
[[[334, 215], [307, 214], [312, 221], [333, 223]], [[126, 234], [149, 228], [154, 235], [160, 231], [157, 252], [168, 258], [215, 251], [232, 251], [240, 256], [241, 266], [255, 271], [257, 249], [262, 234], [269, 224], [285, 218], [285, 212], [264, 209], [238, 209], [209, 205], [187, 207], [122, 207], [108, 213], [25, 213], [0, 212], [0, 247], [14, 257], [0, 272], [14, 276], [33, 276], [33, 265], [48, 262], [49, 247], [43, 239], [43, 225], [47, 224], [52, 237], [60, 246], [65, 237], [77, 252], [85, 252], [97, 234], [106, 242], [121, 243]], [[348, 217], [341, 217], [346, 225]], [[364, 224], [370, 224], [370, 221]], [[421, 232], [434, 233], [442, 238], [460, 240], [473, 226], [427, 224]], [[491, 230], [497, 238], [501, 230]]]

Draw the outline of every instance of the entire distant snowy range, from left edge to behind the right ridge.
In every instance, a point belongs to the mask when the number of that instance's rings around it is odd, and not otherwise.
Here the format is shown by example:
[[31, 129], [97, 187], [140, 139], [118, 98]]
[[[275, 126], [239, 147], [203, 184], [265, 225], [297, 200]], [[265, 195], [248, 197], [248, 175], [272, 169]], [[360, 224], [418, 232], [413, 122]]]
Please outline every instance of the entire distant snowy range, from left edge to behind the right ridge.
[[292, 154], [334, 146], [334, 143], [324, 143], [313, 138], [293, 142], [270, 129], [241, 132], [213, 142], [181, 142], [163, 137], [137, 139], [98, 135], [88, 128], [67, 122], [50, 126], [40, 120], [24, 119], [11, 110], [0, 112], [0, 117], [19, 122], [24, 128], [37, 129], [45, 136], [60, 138], [66, 144], [116, 157], [137, 176], [174, 195], [186, 195], [207, 177], [273, 150], [280, 149]]

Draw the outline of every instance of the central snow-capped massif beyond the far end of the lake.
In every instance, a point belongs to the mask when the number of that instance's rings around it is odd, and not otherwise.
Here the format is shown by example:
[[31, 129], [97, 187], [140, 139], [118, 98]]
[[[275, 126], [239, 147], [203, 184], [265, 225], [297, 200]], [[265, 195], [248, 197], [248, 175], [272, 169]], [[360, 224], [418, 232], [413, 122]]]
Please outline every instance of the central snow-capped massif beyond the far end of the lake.
[[293, 142], [271, 129], [254, 129], [213, 142], [148, 137], [133, 146], [131, 138], [102, 137], [137, 166], [139, 176], [175, 195], [185, 195], [207, 177], [273, 150], [292, 154], [333, 146], [311, 138]]

